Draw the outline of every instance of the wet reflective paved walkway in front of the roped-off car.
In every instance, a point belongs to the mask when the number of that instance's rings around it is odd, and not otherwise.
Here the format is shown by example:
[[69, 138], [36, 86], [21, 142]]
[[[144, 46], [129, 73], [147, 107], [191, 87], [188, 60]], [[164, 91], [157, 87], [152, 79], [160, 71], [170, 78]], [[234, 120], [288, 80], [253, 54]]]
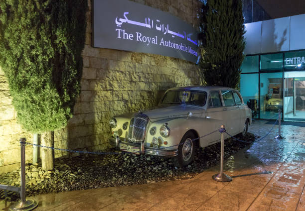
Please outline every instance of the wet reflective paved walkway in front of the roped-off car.
[[[264, 136], [273, 125], [253, 123]], [[219, 165], [189, 180], [100, 188], [30, 197], [35, 211], [305, 211], [305, 127], [277, 126], [262, 141], [225, 160], [232, 182], [212, 180]], [[0, 209], [10, 203], [0, 201]]]

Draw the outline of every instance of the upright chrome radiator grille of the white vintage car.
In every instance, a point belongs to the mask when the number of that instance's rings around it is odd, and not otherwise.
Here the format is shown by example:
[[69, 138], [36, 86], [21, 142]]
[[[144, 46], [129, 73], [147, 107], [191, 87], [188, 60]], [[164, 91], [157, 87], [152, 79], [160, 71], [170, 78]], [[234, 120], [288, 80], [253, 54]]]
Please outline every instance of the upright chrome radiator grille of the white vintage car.
[[141, 141], [145, 139], [146, 127], [150, 118], [143, 114], [138, 113], [130, 120], [128, 141], [136, 144], [141, 144]]

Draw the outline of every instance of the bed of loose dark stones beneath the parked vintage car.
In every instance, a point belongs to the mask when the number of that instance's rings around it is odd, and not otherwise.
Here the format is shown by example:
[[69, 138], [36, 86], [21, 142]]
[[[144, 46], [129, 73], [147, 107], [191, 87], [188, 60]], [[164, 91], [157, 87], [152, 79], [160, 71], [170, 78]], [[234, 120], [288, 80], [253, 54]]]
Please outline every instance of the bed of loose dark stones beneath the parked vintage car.
[[[258, 136], [248, 133], [244, 140]], [[225, 158], [250, 145], [225, 141]], [[114, 151], [114, 150], [110, 150]], [[127, 186], [170, 180], [190, 179], [219, 162], [220, 143], [196, 150], [194, 162], [184, 168], [173, 165], [171, 158], [122, 153], [119, 155], [81, 155], [56, 159], [54, 171], [41, 170], [41, 164], [26, 164], [26, 196], [42, 193]], [[0, 175], [0, 184], [20, 186], [20, 169]], [[15, 201], [19, 194], [0, 190], [0, 199]]]

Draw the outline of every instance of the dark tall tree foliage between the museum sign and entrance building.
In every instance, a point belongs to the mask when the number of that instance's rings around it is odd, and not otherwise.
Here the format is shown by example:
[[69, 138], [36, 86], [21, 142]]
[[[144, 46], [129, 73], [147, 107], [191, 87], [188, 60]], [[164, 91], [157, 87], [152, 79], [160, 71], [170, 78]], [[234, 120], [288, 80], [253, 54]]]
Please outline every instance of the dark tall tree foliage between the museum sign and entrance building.
[[200, 69], [206, 84], [236, 88], [245, 48], [242, 1], [207, 0], [200, 28]]

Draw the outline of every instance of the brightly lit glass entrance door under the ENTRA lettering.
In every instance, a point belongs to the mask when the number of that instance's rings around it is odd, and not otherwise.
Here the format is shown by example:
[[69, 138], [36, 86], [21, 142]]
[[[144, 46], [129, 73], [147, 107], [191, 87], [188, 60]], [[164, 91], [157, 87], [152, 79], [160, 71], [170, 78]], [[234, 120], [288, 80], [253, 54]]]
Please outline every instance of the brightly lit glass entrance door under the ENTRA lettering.
[[284, 73], [284, 120], [305, 122], [305, 71]]

